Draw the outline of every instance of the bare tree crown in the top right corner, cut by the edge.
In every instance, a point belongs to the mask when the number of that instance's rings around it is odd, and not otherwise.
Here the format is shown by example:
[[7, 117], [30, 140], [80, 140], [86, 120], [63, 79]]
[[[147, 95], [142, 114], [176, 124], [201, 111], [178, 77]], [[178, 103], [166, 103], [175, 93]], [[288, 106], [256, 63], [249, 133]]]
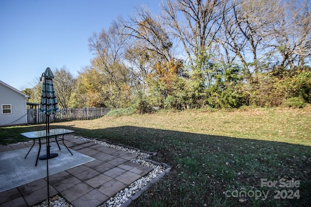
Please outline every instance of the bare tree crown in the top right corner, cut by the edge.
[[275, 52], [279, 66], [303, 68], [306, 58], [311, 56], [311, 3], [310, 1], [292, 0], [280, 10], [279, 21], [274, 25]]

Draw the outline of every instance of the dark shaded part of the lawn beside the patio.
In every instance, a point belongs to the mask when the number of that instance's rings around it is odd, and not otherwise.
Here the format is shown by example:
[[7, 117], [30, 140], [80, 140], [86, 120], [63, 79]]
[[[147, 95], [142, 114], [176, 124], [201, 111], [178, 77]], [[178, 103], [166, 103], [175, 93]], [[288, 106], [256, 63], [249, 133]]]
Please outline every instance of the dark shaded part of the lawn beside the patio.
[[[76, 135], [157, 152], [155, 161], [172, 166], [131, 206], [311, 205], [310, 146], [133, 126], [51, 126], [60, 127]], [[18, 137], [18, 133], [44, 129], [0, 128], [1, 142], [5, 134]], [[262, 179], [276, 184], [263, 185]], [[282, 181], [284, 187], [279, 186]]]

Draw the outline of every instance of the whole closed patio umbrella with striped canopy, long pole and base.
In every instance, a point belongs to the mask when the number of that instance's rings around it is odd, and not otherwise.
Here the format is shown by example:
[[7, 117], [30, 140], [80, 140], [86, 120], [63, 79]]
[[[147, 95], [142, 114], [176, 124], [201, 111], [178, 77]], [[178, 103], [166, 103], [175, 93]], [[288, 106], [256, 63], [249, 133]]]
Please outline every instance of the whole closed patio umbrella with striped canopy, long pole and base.
[[49, 159], [58, 156], [57, 153], [50, 153], [50, 115], [59, 111], [56, 94], [53, 86], [54, 75], [51, 69], [48, 67], [44, 73], [42, 73], [40, 81], [44, 78], [42, 85], [42, 96], [39, 112], [45, 114], [46, 124], [46, 136], [47, 136], [47, 154], [41, 156], [39, 159], [47, 160], [47, 182], [48, 182], [48, 206], [50, 207], [50, 192], [49, 192]]

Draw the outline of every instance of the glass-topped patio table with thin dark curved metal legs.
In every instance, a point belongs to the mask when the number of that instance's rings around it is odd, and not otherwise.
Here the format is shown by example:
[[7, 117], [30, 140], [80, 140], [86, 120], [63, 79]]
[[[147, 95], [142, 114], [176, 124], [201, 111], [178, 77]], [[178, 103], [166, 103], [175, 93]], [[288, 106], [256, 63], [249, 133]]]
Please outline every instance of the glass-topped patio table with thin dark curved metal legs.
[[[31, 146], [30, 150], [28, 151], [27, 155], [25, 156], [25, 159], [28, 156], [28, 154], [30, 153], [30, 151], [32, 150], [33, 146], [35, 145], [35, 143], [36, 143], [35, 140], [38, 140], [39, 141], [39, 143], [38, 143], [39, 144], [39, 151], [38, 151], [37, 159], [35, 161], [35, 166], [37, 166], [38, 159], [39, 159], [39, 154], [40, 154], [40, 150], [41, 150], [41, 139], [42, 138], [50, 139], [50, 137], [53, 137], [53, 136], [55, 136], [55, 142], [57, 143], [57, 146], [58, 146], [59, 150], [61, 150], [61, 149], [60, 149], [60, 146], [59, 146], [59, 144], [57, 142], [57, 138], [58, 138], [57, 136], [62, 136], [63, 144], [65, 145], [65, 147], [70, 152], [69, 148], [64, 143], [64, 135], [65, 134], [71, 134], [73, 132], [74, 132], [73, 130], [69, 130], [69, 129], [65, 129], [65, 128], [55, 128], [55, 129], [50, 129], [48, 134], [47, 134], [46, 130], [30, 131], [30, 132], [21, 133], [20, 135], [22, 135], [22, 136], [24, 136], [24, 137], [34, 141], [33, 145]], [[48, 140], [47, 140], [47, 142], [48, 142]], [[48, 148], [49, 147], [50, 146], [48, 146]], [[58, 156], [58, 154], [56, 154], [56, 153], [53, 153], [53, 155], [50, 154], [49, 153], [50, 149], [48, 149], [47, 151], [48, 151], [48, 154], [41, 156], [40, 159], [51, 159], [51, 158], [54, 158], [54, 157]], [[73, 155], [71, 152], [70, 152], [70, 154]]]

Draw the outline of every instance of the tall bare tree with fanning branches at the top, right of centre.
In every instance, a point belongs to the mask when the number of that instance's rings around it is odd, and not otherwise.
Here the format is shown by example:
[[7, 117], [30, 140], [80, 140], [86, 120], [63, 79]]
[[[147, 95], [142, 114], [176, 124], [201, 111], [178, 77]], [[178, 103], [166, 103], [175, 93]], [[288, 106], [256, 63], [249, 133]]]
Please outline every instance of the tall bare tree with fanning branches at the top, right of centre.
[[220, 30], [224, 5], [223, 0], [166, 0], [162, 4], [163, 19], [182, 43], [191, 68], [212, 46]]

